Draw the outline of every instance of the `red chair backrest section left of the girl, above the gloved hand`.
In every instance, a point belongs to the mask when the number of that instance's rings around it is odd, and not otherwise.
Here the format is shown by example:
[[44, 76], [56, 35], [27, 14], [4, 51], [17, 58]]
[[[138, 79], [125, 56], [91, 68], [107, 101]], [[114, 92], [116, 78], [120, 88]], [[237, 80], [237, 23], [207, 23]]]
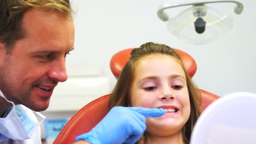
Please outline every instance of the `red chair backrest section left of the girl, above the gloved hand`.
[[77, 111], [62, 128], [53, 144], [72, 144], [75, 137], [95, 127], [108, 113], [109, 96], [110, 94], [97, 98]]

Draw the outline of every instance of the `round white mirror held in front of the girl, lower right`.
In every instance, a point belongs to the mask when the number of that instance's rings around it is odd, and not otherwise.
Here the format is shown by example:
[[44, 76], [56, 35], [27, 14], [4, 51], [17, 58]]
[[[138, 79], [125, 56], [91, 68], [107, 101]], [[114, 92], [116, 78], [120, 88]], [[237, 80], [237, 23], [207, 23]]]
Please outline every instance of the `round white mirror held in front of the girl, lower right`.
[[255, 144], [256, 95], [236, 92], [217, 99], [198, 118], [190, 144]]

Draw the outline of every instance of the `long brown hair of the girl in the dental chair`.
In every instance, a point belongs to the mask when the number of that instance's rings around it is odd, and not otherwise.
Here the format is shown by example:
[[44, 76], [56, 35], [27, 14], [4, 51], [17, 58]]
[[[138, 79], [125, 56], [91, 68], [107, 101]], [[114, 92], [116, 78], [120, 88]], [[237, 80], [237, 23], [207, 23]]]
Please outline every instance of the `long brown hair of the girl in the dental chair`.
[[[184, 144], [189, 144], [194, 124], [197, 121], [199, 115], [201, 114], [201, 93], [196, 85], [192, 82], [190, 76], [187, 74], [183, 63], [181, 62], [180, 56], [174, 49], [170, 48], [169, 46], [150, 42], [145, 43], [141, 45], [138, 49], [133, 49], [131, 51], [131, 58], [122, 69], [115, 88], [112, 91], [112, 95], [110, 96], [108, 110], [115, 106], [127, 107], [130, 104], [130, 88], [132, 81], [135, 78], [136, 64], [144, 56], [148, 56], [151, 54], [164, 54], [174, 57], [185, 72], [191, 108], [190, 117], [181, 131]], [[146, 135], [144, 136], [146, 141], [147, 137]]]

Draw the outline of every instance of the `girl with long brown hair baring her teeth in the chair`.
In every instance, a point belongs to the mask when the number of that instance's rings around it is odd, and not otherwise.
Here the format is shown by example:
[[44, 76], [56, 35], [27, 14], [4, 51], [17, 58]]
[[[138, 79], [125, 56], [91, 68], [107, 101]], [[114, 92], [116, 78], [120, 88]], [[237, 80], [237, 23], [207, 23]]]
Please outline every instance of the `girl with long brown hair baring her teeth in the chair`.
[[174, 49], [145, 43], [131, 52], [109, 100], [115, 106], [164, 108], [146, 119], [146, 131], [136, 144], [189, 144], [201, 113], [201, 95]]

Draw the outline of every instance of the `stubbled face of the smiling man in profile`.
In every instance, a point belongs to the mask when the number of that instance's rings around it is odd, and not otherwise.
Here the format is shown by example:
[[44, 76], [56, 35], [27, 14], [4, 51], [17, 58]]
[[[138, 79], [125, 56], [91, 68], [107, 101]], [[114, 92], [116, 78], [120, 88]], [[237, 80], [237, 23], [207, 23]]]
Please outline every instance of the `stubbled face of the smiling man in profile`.
[[32, 9], [24, 13], [22, 26], [25, 38], [16, 41], [11, 53], [0, 48], [0, 90], [15, 104], [43, 111], [54, 87], [67, 79], [65, 57], [74, 47], [74, 23]]

